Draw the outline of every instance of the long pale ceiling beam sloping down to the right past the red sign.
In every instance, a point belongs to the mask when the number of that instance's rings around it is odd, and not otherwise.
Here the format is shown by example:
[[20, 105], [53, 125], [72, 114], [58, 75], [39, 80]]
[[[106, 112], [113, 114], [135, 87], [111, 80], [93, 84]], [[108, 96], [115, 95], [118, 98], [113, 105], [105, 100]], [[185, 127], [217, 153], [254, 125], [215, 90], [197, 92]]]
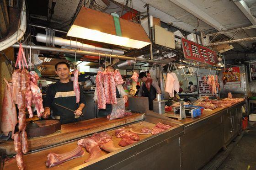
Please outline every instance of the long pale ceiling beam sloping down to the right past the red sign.
[[[207, 13], [202, 11], [200, 8], [198, 8], [196, 5], [194, 5], [190, 0], [170, 0], [172, 3], [180, 6], [183, 10], [191, 13], [193, 16], [196, 16], [201, 21], [207, 23], [209, 26], [215, 28], [219, 32], [221, 31], [227, 31], [228, 29], [222, 26], [218, 21], [214, 20], [211, 16], [209, 16]], [[227, 37], [232, 37], [233, 34], [227, 33], [225, 34]], [[236, 36], [235, 36], [236, 37]], [[237, 39], [240, 37], [236, 37]], [[240, 45], [242, 45], [244, 48], [248, 49], [248, 44], [245, 42], [238, 42]]]

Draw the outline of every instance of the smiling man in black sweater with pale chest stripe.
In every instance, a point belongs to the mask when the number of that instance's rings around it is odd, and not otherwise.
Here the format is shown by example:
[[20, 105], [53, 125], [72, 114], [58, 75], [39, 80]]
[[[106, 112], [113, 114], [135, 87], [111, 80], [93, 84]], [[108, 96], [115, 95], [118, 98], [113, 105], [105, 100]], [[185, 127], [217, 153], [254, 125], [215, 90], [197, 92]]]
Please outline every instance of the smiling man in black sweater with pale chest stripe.
[[[80, 103], [76, 103], [73, 81], [69, 81], [69, 64], [66, 62], [59, 62], [55, 65], [55, 70], [60, 81], [48, 87], [47, 95], [44, 100], [43, 117], [49, 117], [52, 110], [53, 118], [59, 119], [61, 124], [80, 121], [82, 109], [85, 107], [83, 89], [79, 85]], [[75, 110], [75, 112], [57, 106], [55, 103], [71, 110]]]

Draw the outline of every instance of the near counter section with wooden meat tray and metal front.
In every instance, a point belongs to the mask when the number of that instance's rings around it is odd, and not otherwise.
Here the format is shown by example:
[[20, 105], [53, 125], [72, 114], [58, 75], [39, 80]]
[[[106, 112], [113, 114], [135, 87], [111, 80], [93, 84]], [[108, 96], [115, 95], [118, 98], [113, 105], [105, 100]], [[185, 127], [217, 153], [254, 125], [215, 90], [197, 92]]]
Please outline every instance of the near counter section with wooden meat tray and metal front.
[[[69, 160], [61, 165], [54, 166], [51, 169], [179, 169], [180, 137], [183, 135], [182, 125], [175, 124], [171, 121], [161, 120], [145, 114], [140, 114], [140, 116], [143, 117], [142, 120], [123, 122], [122, 127], [124, 127], [126, 130], [133, 128], [133, 130], [137, 132], [140, 132], [142, 128], [153, 128], [158, 122], [170, 125], [172, 127], [156, 135], [139, 134], [140, 141], [126, 147], [122, 147], [121, 149], [111, 153], [102, 151], [101, 157], [90, 162], [84, 163], [84, 161], [89, 157], [89, 153], [85, 151], [85, 155], [82, 157]], [[120, 119], [116, 119], [116, 121], [119, 122]], [[95, 124], [97, 124], [96, 120]], [[118, 143], [121, 138], [116, 138], [114, 135], [115, 129], [116, 128], [112, 128], [110, 130], [103, 131], [112, 136], [114, 145], [116, 147], [120, 147], [118, 146]], [[86, 137], [89, 136], [87, 135]], [[69, 142], [54, 145], [49, 148], [40, 149], [34, 153], [25, 154], [24, 161], [27, 169], [35, 169], [35, 167], [40, 170], [48, 169], [45, 165], [47, 155], [50, 152], [57, 154], [69, 152], [77, 147], [77, 140], [78, 139], [71, 140]], [[5, 161], [4, 169], [16, 169], [16, 166], [16, 159], [9, 159]]]

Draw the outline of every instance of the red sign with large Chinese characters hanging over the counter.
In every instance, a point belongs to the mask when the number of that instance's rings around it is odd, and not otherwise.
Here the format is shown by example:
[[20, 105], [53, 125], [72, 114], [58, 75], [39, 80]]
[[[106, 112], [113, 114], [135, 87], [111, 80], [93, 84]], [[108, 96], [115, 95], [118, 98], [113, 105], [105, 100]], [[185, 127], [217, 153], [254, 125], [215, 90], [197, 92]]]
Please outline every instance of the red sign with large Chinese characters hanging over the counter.
[[215, 51], [182, 37], [181, 43], [185, 58], [210, 65], [217, 64], [217, 53]]

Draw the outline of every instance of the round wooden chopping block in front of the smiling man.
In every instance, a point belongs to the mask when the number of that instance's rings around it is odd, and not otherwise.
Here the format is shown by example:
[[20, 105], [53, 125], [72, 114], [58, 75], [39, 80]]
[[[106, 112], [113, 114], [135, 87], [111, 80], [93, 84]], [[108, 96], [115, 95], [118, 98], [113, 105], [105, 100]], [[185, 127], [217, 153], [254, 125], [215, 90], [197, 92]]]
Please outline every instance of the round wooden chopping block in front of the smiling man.
[[27, 137], [34, 138], [46, 136], [60, 130], [60, 122], [58, 120], [42, 120], [27, 123]]

